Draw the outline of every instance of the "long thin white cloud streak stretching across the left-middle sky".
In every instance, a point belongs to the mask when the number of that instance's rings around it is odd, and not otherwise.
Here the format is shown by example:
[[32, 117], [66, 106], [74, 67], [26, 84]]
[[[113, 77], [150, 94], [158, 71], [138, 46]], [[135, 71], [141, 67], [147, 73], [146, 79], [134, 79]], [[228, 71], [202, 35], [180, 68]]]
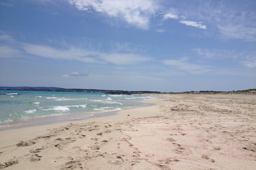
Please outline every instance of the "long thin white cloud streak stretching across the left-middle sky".
[[23, 49], [32, 55], [41, 57], [76, 60], [86, 63], [113, 63], [117, 65], [135, 64], [137, 62], [150, 61], [150, 57], [143, 57], [132, 53], [100, 53], [93, 50], [80, 48], [55, 49], [48, 46], [23, 44]]

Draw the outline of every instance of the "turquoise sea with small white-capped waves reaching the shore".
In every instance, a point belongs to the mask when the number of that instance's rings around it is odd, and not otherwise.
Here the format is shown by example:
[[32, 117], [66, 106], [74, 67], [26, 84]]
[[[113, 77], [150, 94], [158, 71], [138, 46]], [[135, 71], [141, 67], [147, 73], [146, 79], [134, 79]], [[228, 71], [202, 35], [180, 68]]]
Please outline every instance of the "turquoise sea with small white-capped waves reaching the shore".
[[150, 104], [151, 95], [109, 95], [97, 92], [0, 90], [0, 131], [27, 126], [115, 115]]

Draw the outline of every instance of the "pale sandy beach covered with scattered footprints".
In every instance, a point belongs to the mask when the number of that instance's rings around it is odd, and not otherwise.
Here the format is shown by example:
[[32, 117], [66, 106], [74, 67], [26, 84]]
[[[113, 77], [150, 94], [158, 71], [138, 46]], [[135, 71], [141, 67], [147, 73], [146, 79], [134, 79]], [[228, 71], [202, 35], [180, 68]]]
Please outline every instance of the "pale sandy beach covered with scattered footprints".
[[3, 169], [255, 169], [255, 95], [174, 95], [149, 107], [0, 132]]

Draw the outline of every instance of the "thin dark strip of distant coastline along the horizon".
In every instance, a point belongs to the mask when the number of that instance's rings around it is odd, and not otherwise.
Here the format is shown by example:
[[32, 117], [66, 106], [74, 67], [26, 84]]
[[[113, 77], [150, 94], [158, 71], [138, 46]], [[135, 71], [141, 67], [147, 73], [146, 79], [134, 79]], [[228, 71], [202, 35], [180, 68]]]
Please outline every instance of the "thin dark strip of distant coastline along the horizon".
[[59, 87], [0, 87], [0, 90], [27, 90], [27, 91], [67, 91], [67, 92], [102, 92], [105, 94], [206, 94], [206, 95], [256, 95], [256, 89], [247, 89], [247, 90], [233, 90], [233, 91], [185, 91], [185, 92], [159, 92], [159, 91], [125, 91], [125, 90], [100, 90], [100, 89], [66, 89]]

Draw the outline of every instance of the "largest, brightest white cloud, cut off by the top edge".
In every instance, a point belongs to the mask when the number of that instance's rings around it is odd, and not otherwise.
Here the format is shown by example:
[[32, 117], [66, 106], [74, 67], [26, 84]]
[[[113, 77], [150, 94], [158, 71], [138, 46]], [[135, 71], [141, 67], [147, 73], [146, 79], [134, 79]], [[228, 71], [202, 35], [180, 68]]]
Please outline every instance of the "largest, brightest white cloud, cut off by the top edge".
[[141, 29], [148, 29], [150, 16], [158, 8], [151, 0], [69, 0], [69, 3], [78, 10], [103, 12]]

